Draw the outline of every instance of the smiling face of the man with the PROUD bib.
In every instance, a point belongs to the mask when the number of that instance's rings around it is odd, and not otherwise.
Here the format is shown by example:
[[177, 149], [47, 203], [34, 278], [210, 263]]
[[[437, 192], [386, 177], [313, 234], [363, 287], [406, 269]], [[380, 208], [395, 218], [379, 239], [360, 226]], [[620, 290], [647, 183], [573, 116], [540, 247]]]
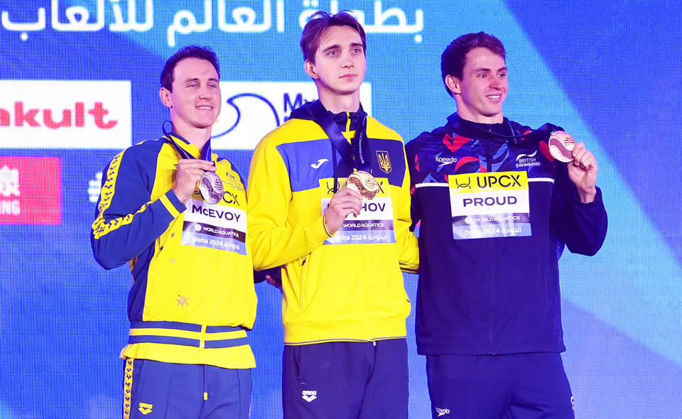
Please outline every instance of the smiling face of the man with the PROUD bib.
[[486, 124], [503, 121], [502, 103], [509, 89], [504, 58], [487, 48], [474, 48], [467, 53], [462, 79], [447, 76], [445, 82], [463, 119]]

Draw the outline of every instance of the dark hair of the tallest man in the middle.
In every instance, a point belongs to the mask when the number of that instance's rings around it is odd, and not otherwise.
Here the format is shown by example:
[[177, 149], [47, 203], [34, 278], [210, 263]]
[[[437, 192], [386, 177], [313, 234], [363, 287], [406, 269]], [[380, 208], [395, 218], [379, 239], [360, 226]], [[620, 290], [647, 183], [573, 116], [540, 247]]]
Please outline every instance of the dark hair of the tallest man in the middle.
[[345, 10], [333, 15], [326, 11], [316, 11], [313, 16], [310, 16], [308, 23], [305, 23], [303, 34], [301, 34], [301, 50], [303, 50], [304, 60], [315, 62], [315, 53], [320, 47], [320, 39], [330, 26], [350, 26], [359, 33], [362, 39], [362, 49], [367, 50], [367, 37], [364, 29], [352, 14]]

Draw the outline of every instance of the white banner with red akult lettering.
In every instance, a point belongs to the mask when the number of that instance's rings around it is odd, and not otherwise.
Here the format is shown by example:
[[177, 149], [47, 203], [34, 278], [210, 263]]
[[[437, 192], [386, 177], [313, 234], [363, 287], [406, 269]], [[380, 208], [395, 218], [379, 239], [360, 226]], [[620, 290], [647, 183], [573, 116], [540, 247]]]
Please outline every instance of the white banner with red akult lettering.
[[128, 81], [0, 80], [0, 147], [126, 148]]

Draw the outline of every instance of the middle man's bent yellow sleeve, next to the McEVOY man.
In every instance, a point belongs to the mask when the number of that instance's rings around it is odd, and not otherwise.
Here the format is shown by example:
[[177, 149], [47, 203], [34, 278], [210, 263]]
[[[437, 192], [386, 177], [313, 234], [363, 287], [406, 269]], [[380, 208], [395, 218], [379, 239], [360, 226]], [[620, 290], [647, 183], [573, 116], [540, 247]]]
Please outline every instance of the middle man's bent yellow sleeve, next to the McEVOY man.
[[249, 171], [247, 221], [254, 269], [282, 266], [308, 255], [329, 238], [322, 213], [308, 222], [288, 222], [291, 184], [284, 160], [269, 134], [256, 146]]

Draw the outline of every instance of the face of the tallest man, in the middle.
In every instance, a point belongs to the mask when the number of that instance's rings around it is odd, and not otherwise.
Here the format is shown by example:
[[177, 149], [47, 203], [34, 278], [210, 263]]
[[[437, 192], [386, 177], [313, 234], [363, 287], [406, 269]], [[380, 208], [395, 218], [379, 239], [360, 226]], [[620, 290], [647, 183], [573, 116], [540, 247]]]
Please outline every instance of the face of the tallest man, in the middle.
[[367, 70], [360, 34], [350, 26], [330, 26], [315, 52], [315, 63], [305, 62], [305, 71], [315, 79], [320, 95], [359, 92]]

